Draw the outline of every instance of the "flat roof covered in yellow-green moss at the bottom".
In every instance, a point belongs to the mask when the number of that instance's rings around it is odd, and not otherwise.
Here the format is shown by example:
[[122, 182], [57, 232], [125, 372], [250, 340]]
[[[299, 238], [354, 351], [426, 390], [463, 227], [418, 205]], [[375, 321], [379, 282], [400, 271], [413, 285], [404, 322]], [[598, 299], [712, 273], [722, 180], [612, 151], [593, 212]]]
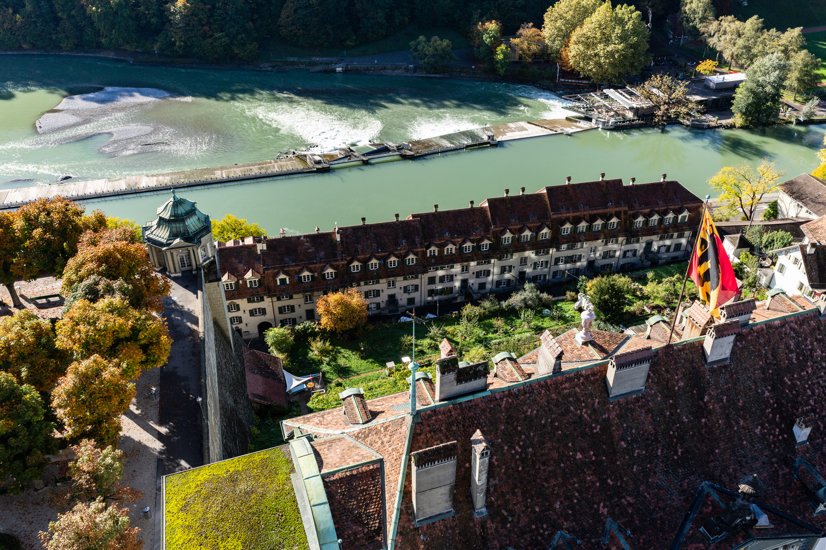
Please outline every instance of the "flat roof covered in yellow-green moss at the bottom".
[[166, 548], [308, 549], [287, 446], [164, 478]]

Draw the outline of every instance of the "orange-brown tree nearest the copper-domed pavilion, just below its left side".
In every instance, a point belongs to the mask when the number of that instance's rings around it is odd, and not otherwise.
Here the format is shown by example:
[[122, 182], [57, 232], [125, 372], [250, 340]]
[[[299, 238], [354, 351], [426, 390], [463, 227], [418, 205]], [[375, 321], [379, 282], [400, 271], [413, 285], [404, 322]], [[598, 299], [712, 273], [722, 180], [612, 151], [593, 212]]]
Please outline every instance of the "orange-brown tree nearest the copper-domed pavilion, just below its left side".
[[134, 239], [135, 234], [129, 228], [84, 233], [77, 255], [69, 260], [63, 272], [64, 295], [73, 294], [83, 281], [97, 275], [129, 284], [131, 305], [163, 312], [164, 296], [169, 295], [172, 284], [154, 270], [146, 248]]

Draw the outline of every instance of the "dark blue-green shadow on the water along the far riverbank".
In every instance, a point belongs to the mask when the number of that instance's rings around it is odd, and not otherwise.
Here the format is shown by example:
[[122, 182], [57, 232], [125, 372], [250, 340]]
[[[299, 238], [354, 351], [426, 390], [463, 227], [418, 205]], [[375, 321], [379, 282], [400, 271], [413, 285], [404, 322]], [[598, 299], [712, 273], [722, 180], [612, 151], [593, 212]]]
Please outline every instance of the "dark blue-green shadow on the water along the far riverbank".
[[[59, 64], [60, 70], [55, 66]], [[330, 106], [376, 113], [393, 106], [430, 110], [488, 110], [502, 115], [522, 105], [507, 88], [447, 78], [308, 73], [304, 69], [259, 71], [239, 68], [176, 68], [134, 65], [119, 59], [65, 55], [3, 55], [0, 73], [8, 88], [59, 87], [72, 94], [109, 87], [157, 87], [183, 96], [243, 101], [262, 94], [287, 94]], [[67, 75], [71, 75], [70, 77]]]

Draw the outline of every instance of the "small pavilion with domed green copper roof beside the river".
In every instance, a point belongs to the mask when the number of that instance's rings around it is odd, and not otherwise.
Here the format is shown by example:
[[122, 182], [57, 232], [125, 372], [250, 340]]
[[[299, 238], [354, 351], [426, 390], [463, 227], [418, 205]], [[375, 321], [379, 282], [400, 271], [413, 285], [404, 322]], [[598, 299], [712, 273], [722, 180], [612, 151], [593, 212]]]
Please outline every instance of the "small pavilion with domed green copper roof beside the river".
[[141, 229], [150, 261], [170, 276], [197, 271], [204, 260], [215, 256], [209, 216], [174, 190], [172, 198], [158, 207], [158, 217]]

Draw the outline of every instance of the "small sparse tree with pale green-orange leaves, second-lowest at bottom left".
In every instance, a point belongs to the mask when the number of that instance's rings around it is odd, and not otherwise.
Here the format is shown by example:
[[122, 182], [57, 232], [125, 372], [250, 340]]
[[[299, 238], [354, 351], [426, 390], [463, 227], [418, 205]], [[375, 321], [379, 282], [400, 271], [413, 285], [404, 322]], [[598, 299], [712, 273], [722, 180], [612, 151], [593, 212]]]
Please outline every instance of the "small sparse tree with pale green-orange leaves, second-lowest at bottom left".
[[69, 462], [69, 487], [55, 494], [51, 503], [66, 509], [76, 501], [94, 501], [124, 504], [135, 502], [143, 493], [121, 482], [123, 451], [112, 445], [101, 448], [93, 440], [81, 440], [70, 447], [75, 458]]

